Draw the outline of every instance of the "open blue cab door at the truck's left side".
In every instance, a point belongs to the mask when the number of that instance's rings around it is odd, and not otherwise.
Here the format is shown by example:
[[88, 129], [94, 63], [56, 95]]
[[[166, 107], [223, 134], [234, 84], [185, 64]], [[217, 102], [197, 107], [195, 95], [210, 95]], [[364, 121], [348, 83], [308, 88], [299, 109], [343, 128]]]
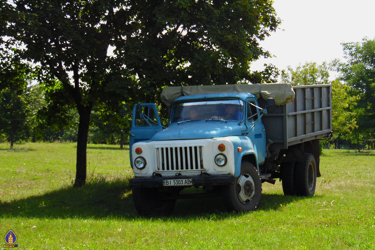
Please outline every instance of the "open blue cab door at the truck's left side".
[[148, 141], [163, 129], [154, 103], [138, 103], [133, 108], [132, 127], [129, 134], [130, 165], [133, 167], [132, 146]]

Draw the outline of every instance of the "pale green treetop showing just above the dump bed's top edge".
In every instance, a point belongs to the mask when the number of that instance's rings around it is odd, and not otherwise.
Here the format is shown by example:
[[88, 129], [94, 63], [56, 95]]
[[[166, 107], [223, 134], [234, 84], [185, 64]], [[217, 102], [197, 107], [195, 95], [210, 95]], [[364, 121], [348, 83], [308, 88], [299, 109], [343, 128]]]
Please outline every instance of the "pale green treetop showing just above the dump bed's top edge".
[[282, 74], [282, 81], [297, 85], [314, 85], [329, 83], [329, 64], [325, 61], [322, 64], [306, 62], [298, 64], [296, 69], [288, 66], [287, 71]]

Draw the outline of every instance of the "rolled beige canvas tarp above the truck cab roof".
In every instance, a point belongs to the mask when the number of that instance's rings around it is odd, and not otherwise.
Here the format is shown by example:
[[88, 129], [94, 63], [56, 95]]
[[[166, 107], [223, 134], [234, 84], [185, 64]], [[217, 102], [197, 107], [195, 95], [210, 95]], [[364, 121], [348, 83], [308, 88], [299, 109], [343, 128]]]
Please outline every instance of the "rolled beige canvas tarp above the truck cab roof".
[[[233, 85], [205, 85], [205, 86], [183, 86], [163, 88], [161, 99], [167, 106], [171, 106], [175, 99], [181, 96], [193, 94], [216, 94], [216, 93], [251, 93], [257, 99], [273, 98], [276, 105], [284, 105], [294, 99], [293, 87], [290, 83], [275, 84], [233, 84]], [[261, 94], [260, 94], [261, 93]]]

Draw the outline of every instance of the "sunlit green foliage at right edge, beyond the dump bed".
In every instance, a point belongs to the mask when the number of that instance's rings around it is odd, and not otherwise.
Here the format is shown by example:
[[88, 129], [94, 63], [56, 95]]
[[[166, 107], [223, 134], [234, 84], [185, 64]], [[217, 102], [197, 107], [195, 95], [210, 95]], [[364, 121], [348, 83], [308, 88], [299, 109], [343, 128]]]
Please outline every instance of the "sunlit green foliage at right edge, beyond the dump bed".
[[374, 140], [375, 39], [365, 37], [362, 42], [342, 43], [342, 46], [346, 61], [336, 60], [335, 67], [341, 73], [339, 80], [347, 87], [342, 90], [345, 94], [339, 94], [341, 120], [337, 123], [342, 131], [349, 129], [342, 138], [357, 144], [357, 151], [360, 151], [362, 143], [365, 148], [366, 141], [372, 144]]

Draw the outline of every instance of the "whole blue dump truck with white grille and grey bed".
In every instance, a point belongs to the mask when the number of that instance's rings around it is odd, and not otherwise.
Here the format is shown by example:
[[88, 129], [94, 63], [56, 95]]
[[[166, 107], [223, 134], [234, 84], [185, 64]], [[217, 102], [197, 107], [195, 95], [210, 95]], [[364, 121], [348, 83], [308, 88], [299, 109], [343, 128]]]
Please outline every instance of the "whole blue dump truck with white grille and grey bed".
[[[332, 135], [331, 85], [165, 87], [168, 127], [153, 103], [135, 105], [130, 130], [133, 202], [143, 216], [172, 213], [176, 199], [221, 196], [252, 211], [262, 184], [313, 196], [319, 140]], [[200, 192], [181, 192], [195, 187]]]

